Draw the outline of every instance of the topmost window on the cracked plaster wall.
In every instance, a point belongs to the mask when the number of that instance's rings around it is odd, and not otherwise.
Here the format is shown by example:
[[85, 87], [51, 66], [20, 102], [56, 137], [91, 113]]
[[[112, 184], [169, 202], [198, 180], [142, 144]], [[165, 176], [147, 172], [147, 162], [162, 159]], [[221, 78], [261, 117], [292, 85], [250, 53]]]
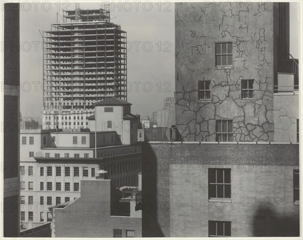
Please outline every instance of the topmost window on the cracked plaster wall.
[[232, 42], [216, 43], [216, 66], [232, 65]]

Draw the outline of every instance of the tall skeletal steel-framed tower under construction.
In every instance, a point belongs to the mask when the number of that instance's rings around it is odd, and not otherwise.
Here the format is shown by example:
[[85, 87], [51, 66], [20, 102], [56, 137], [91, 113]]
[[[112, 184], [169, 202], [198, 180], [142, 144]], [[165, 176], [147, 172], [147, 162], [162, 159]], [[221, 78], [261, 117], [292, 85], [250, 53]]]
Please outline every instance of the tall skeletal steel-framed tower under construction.
[[43, 41], [43, 128], [86, 128], [95, 102], [127, 100], [126, 32], [109, 11], [64, 11]]

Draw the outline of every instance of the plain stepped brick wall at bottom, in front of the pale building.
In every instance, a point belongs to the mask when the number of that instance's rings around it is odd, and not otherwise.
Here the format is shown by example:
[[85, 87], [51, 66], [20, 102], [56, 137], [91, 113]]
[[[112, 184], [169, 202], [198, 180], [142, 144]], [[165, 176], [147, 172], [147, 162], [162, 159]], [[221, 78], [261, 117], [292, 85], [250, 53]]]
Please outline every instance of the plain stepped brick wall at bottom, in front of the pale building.
[[141, 237], [141, 218], [111, 216], [110, 180], [81, 181], [81, 189], [76, 201], [54, 209], [54, 236], [113, 237], [113, 229], [122, 229], [123, 237], [126, 230], [135, 230], [135, 237]]

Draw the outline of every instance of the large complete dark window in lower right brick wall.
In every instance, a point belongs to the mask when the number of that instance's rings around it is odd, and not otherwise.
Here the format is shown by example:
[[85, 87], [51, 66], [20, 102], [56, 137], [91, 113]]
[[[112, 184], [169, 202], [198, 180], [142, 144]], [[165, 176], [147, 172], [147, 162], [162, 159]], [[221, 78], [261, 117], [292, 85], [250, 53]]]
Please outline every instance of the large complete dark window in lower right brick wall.
[[209, 199], [231, 197], [230, 172], [231, 169], [208, 169]]

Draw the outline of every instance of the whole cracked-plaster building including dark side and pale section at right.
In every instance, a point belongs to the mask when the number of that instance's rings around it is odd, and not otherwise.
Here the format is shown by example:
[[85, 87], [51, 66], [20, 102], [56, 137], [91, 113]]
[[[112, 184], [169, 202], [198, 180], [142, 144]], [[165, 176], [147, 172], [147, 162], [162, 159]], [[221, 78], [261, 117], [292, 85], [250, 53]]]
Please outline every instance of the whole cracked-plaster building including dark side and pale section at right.
[[289, 4], [176, 8], [181, 139], [297, 142], [298, 60], [289, 53]]

